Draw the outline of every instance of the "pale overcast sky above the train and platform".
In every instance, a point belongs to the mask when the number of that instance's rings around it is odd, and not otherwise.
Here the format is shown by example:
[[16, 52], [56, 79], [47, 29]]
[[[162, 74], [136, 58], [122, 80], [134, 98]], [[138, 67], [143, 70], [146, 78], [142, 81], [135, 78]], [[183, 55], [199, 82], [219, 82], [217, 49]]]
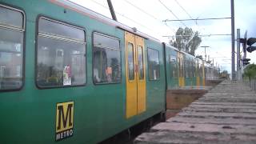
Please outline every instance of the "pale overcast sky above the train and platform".
[[[71, 1], [111, 18], [106, 0]], [[198, 30], [200, 34], [231, 34], [230, 19], [162, 22], [177, 18], [230, 18], [230, 0], [112, 0], [112, 3], [118, 22], [136, 27], [137, 30], [162, 42], [169, 42], [169, 39], [163, 36], [172, 36], [178, 27], [185, 26]], [[249, 38], [256, 37], [255, 8], [255, 0], [234, 0], [235, 32], [240, 28], [242, 37], [246, 30]], [[210, 60], [214, 58], [215, 65], [217, 62], [230, 71], [230, 35], [202, 37], [200, 46], [210, 46], [206, 48], [207, 58], [210, 55]], [[203, 55], [204, 58], [204, 48], [198, 47], [196, 54]], [[251, 58], [251, 63], [256, 63], [256, 52], [247, 53], [247, 58]]]

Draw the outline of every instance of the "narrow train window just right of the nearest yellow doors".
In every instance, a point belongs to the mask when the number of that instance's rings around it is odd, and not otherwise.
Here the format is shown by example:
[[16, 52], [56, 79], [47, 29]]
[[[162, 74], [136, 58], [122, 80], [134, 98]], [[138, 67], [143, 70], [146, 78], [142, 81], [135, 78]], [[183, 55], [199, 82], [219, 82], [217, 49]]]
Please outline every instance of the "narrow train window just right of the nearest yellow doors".
[[150, 80], [157, 80], [160, 78], [160, 62], [159, 51], [148, 49], [148, 66], [149, 66], [149, 78]]

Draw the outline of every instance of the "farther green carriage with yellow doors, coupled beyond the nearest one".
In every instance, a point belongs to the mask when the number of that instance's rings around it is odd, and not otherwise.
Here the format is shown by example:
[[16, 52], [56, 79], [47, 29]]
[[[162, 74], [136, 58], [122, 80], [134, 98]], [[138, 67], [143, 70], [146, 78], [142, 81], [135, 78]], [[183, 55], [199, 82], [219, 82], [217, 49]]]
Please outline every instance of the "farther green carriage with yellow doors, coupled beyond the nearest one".
[[211, 73], [206, 74], [205, 70], [210, 69], [198, 58], [179, 51], [173, 46], [165, 46], [166, 57], [166, 82], [167, 89], [178, 89], [182, 87], [205, 86], [206, 75], [210, 78]]

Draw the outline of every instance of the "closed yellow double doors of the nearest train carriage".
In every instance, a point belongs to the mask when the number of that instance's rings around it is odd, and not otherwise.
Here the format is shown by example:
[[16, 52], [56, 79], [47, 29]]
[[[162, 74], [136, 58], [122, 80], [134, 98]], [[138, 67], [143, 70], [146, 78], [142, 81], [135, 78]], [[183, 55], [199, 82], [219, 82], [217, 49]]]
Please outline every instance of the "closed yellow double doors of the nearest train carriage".
[[126, 118], [146, 110], [144, 38], [126, 32]]

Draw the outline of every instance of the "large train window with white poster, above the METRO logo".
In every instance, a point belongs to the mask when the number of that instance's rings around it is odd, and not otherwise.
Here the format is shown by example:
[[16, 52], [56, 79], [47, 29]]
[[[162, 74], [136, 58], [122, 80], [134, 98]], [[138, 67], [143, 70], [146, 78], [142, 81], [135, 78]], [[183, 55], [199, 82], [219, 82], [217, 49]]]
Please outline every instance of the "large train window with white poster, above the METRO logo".
[[82, 86], [86, 83], [84, 30], [39, 18], [36, 81], [41, 88]]

